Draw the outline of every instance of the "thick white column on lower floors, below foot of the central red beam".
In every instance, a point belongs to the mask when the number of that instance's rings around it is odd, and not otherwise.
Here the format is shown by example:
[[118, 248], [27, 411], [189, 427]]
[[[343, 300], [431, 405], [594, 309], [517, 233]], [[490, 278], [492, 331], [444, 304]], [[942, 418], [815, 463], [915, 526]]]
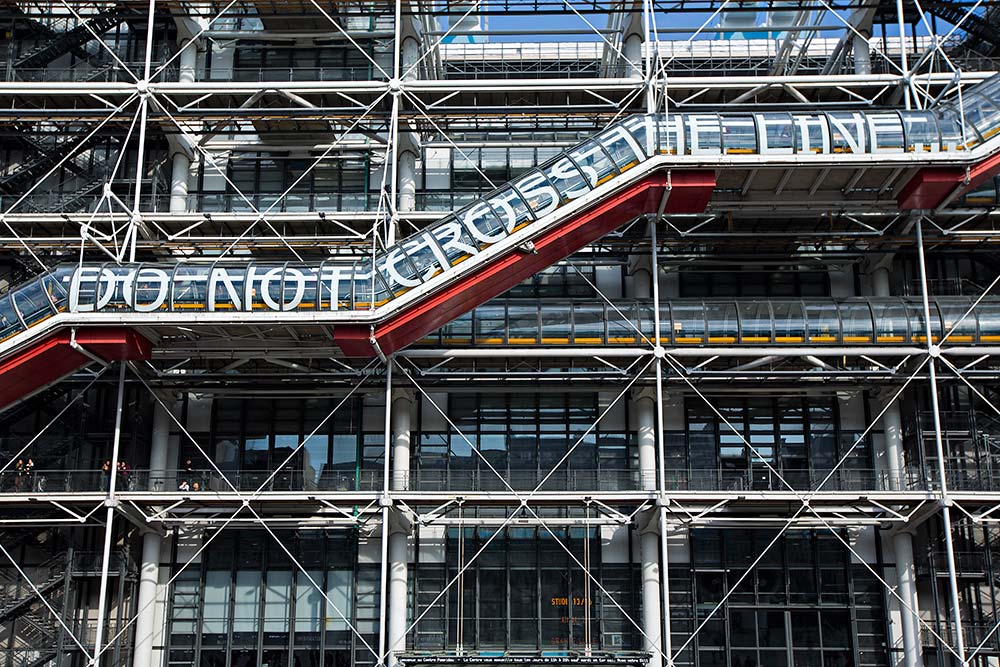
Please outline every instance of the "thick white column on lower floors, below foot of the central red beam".
[[[392, 391], [392, 490], [405, 491], [409, 488], [410, 479], [410, 412], [413, 407], [413, 392], [403, 389]], [[407, 617], [407, 578], [408, 563], [407, 541], [410, 531], [399, 508], [392, 508], [393, 518], [397, 525], [387, 526], [389, 530], [389, 652], [387, 664], [392, 667], [398, 663], [395, 652], [406, 649], [406, 617]]]

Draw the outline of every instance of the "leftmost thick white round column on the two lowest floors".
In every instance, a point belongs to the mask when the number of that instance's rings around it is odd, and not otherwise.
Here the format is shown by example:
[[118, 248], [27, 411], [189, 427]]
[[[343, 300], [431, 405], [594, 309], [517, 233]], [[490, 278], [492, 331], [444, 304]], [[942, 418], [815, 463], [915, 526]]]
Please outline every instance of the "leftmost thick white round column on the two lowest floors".
[[[149, 451], [149, 489], [162, 491], [167, 473], [167, 451], [170, 448], [170, 414], [156, 403], [153, 412], [153, 437]], [[156, 636], [156, 589], [159, 585], [160, 547], [163, 538], [158, 532], [142, 538], [142, 564], [139, 569], [139, 597], [136, 602], [135, 652], [132, 667], [153, 667], [153, 639]]]

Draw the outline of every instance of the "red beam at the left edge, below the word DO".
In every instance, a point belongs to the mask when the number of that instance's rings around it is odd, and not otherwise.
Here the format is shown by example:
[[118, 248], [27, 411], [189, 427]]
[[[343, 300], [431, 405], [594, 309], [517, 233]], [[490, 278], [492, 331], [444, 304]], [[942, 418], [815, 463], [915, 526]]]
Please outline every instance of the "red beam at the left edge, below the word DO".
[[105, 361], [149, 359], [152, 345], [124, 327], [64, 330], [0, 360], [0, 409], [35, 393], [94, 361], [84, 352]]

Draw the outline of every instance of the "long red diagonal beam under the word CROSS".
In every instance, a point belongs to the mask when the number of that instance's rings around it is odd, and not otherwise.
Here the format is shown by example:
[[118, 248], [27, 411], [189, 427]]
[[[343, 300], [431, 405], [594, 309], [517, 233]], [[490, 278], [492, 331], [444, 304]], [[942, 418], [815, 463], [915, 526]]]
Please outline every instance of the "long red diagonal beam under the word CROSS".
[[383, 354], [392, 354], [451, 322], [478, 305], [503, 294], [522, 280], [640, 215], [655, 213], [670, 186], [664, 212], [701, 213], [715, 189], [715, 172], [707, 170], [650, 174], [596, 202], [555, 229], [532, 241], [532, 251], [512, 249], [446, 288], [370, 326], [338, 326], [334, 338], [344, 354], [372, 357], [374, 337]]

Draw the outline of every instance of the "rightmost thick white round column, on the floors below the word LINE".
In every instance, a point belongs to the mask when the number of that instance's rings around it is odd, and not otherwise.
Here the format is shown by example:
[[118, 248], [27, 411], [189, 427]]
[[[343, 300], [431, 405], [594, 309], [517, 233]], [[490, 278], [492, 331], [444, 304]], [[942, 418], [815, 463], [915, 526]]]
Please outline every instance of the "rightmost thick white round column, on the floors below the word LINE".
[[[889, 269], [878, 266], [871, 273], [874, 296], [890, 296]], [[889, 489], [905, 488], [906, 462], [903, 457], [903, 422], [899, 414], [899, 401], [893, 401], [882, 415], [884, 436], [885, 473]], [[923, 664], [920, 646], [919, 600], [917, 599], [916, 568], [913, 564], [913, 535], [900, 530], [892, 536], [892, 550], [896, 561], [896, 583], [902, 604], [899, 616], [903, 625], [903, 664], [919, 667]], [[905, 605], [905, 606], [904, 606]], [[907, 610], [906, 607], [910, 609]]]

